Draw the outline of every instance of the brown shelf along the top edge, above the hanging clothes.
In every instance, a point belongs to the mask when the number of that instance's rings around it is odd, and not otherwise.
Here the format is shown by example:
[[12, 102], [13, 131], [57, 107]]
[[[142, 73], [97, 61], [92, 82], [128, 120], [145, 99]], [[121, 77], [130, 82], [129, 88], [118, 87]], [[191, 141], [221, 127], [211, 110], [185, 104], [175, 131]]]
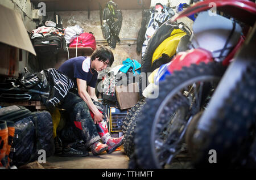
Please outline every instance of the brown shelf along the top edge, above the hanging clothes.
[[[46, 3], [46, 11], [81, 11], [81, 10], [102, 10], [109, 0], [31, 0], [35, 7], [38, 7], [39, 2]], [[121, 10], [138, 10], [142, 9], [142, 5], [139, 3], [143, 2], [144, 8], [149, 9], [151, 0], [113, 0], [117, 3]]]

